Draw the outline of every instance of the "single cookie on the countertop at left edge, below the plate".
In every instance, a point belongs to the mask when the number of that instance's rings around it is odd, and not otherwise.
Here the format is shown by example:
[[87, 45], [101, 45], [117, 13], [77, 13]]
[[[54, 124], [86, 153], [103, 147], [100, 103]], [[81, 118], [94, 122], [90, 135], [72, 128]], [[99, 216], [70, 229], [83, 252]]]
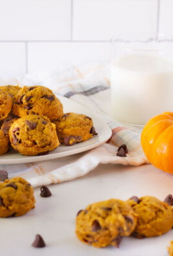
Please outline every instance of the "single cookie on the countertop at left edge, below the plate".
[[0, 217], [25, 215], [35, 202], [34, 189], [23, 178], [0, 183]]

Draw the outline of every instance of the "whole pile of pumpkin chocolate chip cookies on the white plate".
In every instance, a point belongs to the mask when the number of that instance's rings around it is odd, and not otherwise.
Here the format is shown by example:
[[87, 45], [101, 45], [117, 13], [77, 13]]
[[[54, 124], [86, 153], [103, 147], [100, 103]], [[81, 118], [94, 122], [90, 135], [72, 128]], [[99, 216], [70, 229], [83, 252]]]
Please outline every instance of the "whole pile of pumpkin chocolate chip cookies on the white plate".
[[44, 86], [1, 86], [0, 154], [11, 145], [25, 156], [48, 154], [96, 135], [92, 119], [64, 113], [63, 104]]

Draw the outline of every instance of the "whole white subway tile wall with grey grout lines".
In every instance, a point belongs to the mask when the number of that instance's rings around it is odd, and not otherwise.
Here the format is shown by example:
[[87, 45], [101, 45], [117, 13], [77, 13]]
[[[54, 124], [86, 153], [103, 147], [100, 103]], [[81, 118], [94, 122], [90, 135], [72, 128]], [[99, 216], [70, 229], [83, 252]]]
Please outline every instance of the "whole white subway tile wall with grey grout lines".
[[173, 0], [0, 0], [0, 76], [103, 62], [122, 32], [173, 34]]

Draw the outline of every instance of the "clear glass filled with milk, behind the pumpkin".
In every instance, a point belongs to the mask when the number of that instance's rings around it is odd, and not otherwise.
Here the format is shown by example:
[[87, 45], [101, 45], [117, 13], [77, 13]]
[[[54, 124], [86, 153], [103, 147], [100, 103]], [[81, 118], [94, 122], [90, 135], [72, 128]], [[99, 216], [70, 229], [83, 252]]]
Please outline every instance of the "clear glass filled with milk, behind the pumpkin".
[[119, 122], [143, 126], [173, 111], [173, 40], [152, 33], [123, 34], [111, 40], [111, 104]]

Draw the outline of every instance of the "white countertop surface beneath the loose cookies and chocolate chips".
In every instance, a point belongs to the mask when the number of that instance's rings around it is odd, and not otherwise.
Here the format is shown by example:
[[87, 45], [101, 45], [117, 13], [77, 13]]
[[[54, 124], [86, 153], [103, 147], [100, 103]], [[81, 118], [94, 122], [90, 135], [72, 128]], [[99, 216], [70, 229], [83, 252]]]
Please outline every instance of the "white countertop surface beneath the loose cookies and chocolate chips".
[[[76, 238], [75, 218], [88, 204], [131, 196], [156, 196], [164, 200], [173, 193], [173, 175], [152, 165], [139, 167], [99, 165], [87, 176], [49, 186], [52, 196], [41, 198], [35, 189], [36, 208], [24, 216], [0, 219], [0, 244], [2, 256], [74, 255], [74, 256], [167, 256], [167, 246], [173, 240], [173, 229], [150, 239], [124, 238], [119, 249], [94, 248]], [[39, 234], [45, 248], [31, 246]]]

